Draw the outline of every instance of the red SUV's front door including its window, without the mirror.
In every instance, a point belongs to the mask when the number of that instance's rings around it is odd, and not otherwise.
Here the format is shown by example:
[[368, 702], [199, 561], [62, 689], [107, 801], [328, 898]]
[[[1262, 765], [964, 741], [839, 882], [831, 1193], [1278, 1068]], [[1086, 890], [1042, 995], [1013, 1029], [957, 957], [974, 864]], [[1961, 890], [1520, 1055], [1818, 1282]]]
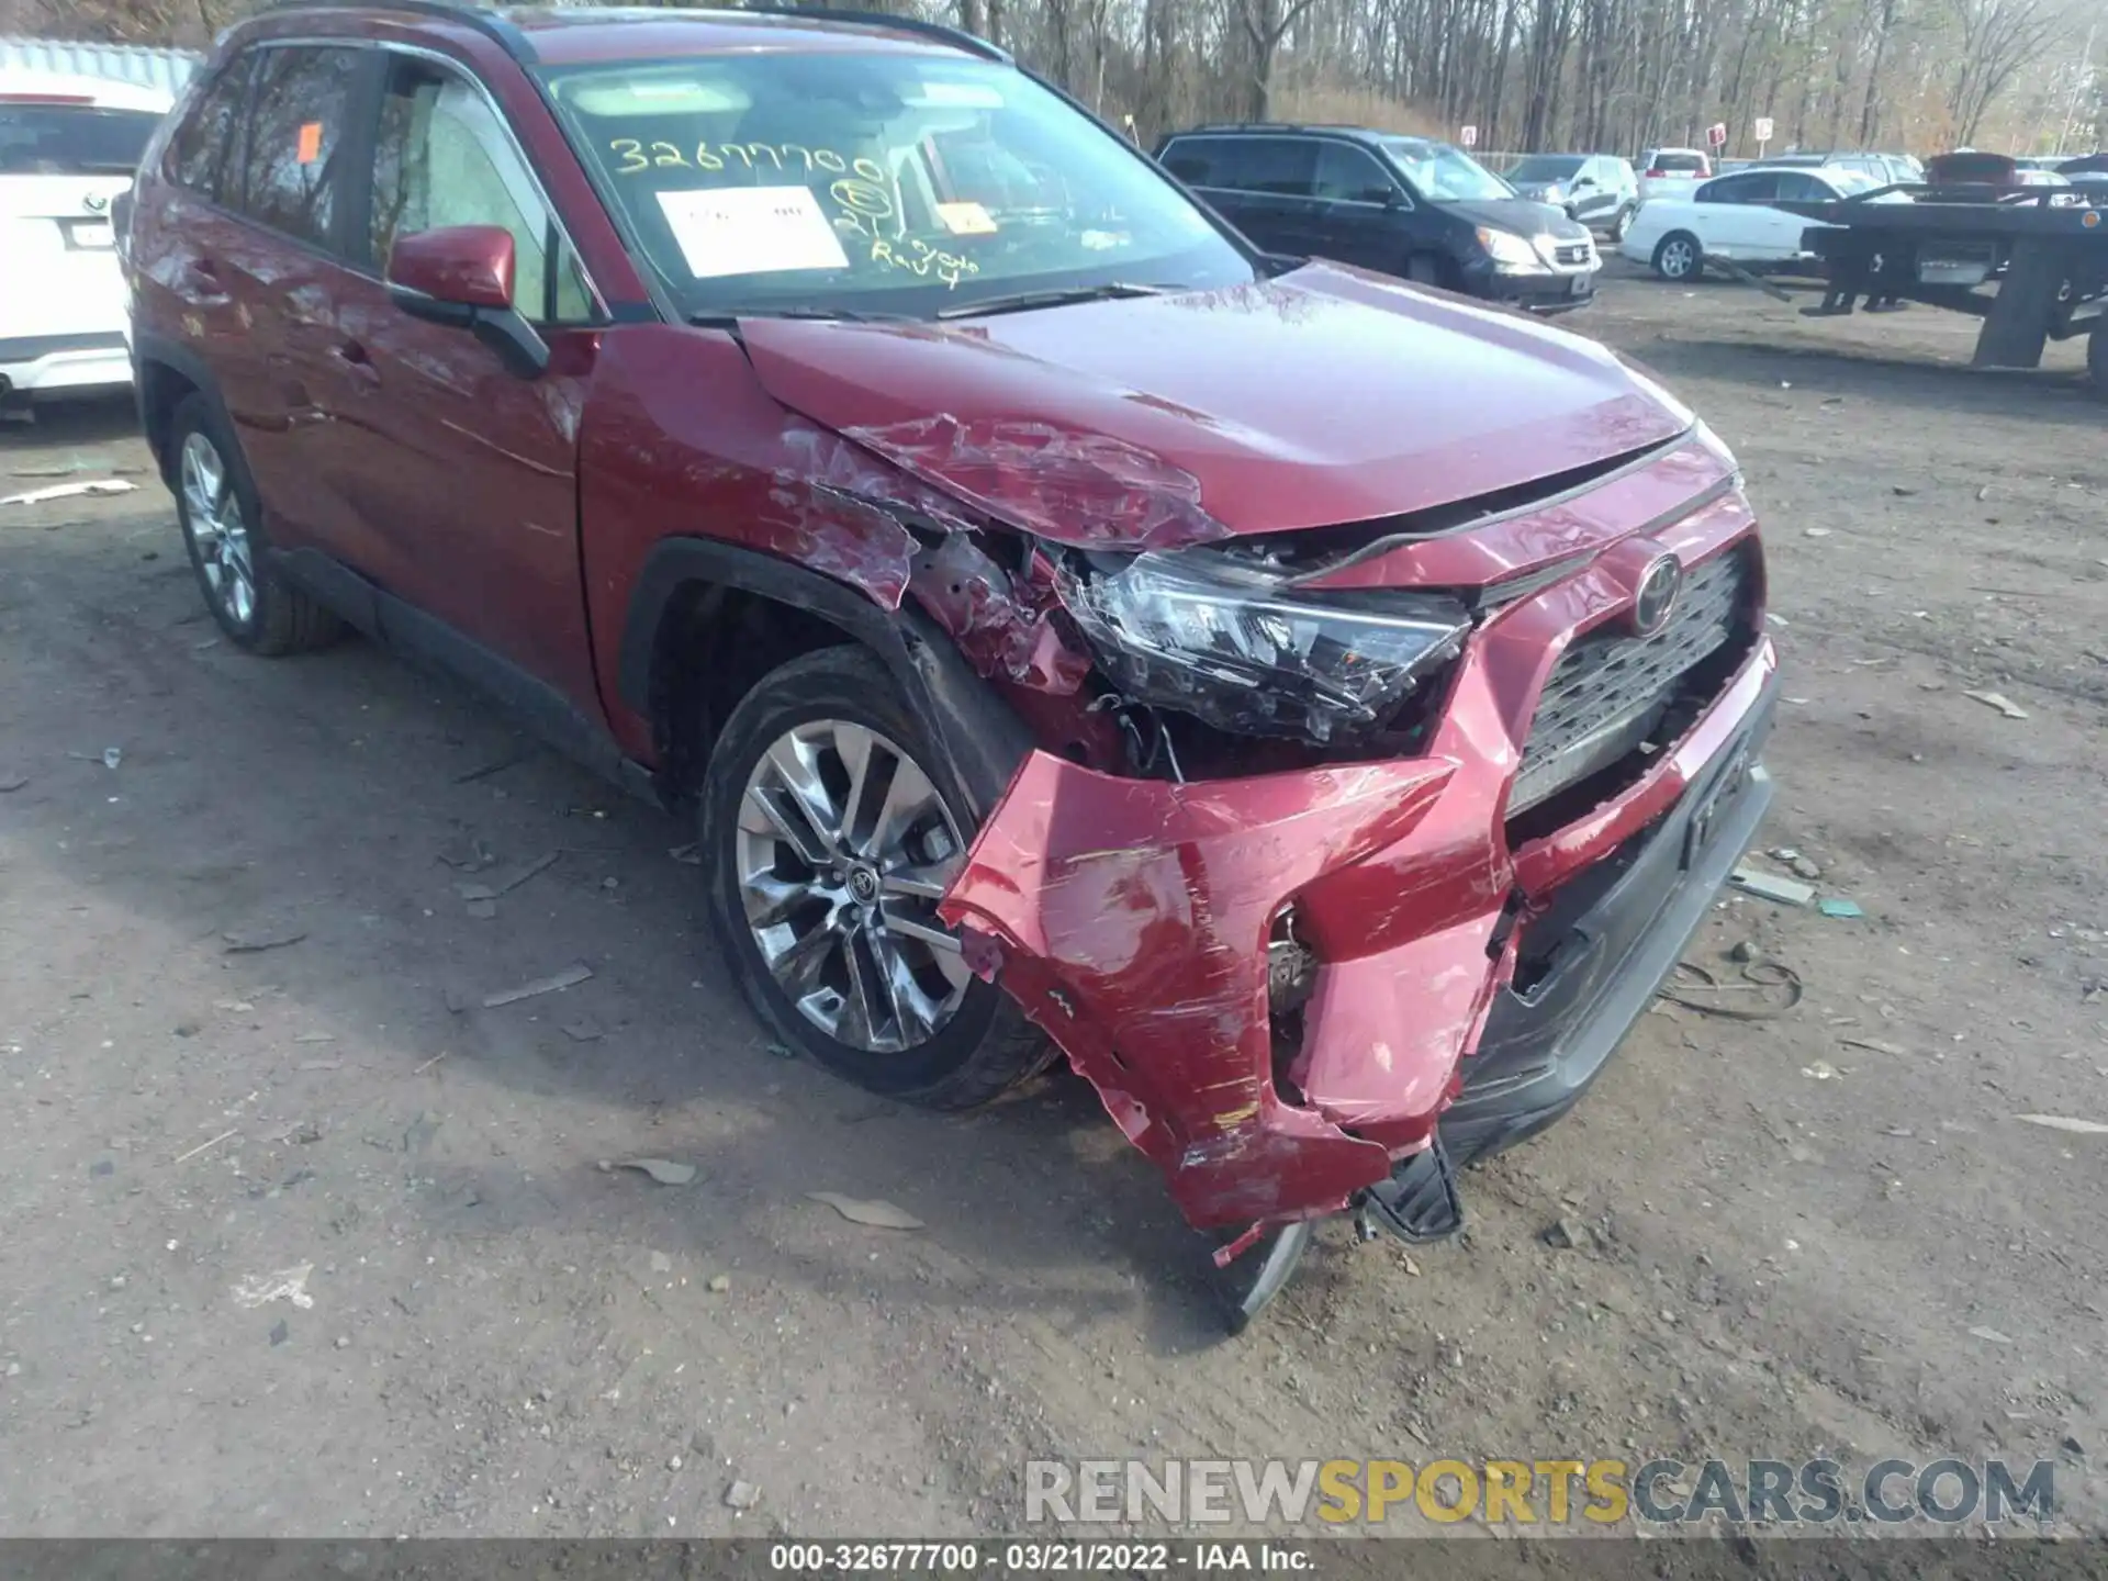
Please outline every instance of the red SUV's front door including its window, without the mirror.
[[[483, 86], [384, 51], [356, 192], [360, 272], [331, 325], [333, 455], [363, 533], [352, 569], [597, 715], [578, 546], [578, 422], [599, 325], [554, 209]], [[510, 373], [466, 329], [388, 299], [398, 236], [502, 226], [514, 308], [550, 346]], [[443, 632], [445, 637], [445, 632]], [[445, 658], [445, 653], [443, 653]], [[476, 656], [470, 656], [476, 658]]]

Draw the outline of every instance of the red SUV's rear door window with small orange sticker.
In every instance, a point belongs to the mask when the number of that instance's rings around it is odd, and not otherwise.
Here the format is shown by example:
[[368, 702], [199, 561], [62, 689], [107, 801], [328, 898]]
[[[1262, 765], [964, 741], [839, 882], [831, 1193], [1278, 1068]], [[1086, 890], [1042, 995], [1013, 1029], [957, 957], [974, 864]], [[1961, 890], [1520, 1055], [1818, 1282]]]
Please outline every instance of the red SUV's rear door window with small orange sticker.
[[337, 152], [363, 61], [356, 48], [257, 51], [240, 183], [228, 183], [228, 202], [272, 230], [329, 247], [344, 181]]

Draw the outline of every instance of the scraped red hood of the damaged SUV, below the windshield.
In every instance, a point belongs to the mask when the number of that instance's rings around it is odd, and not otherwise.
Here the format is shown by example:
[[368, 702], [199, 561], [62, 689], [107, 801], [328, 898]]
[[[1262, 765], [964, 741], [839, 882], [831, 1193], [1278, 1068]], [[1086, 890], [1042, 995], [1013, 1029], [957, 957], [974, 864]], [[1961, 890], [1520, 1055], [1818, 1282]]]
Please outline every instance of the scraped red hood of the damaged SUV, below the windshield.
[[1330, 264], [978, 320], [740, 333], [793, 411], [1065, 544], [1372, 521], [1691, 422], [1594, 341]]

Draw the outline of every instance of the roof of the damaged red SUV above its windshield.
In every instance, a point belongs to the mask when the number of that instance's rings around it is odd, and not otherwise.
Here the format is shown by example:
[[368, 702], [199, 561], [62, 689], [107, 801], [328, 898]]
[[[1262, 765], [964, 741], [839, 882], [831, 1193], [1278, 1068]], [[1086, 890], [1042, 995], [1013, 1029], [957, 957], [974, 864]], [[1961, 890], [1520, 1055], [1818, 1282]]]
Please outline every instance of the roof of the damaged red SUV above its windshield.
[[[401, 27], [483, 34], [523, 65], [658, 61], [698, 55], [790, 51], [968, 53], [1010, 57], [993, 44], [915, 17], [862, 11], [795, 11], [769, 4], [738, 11], [662, 6], [479, 6], [453, 0], [285, 0], [232, 30], [238, 38], [272, 34], [375, 36]], [[234, 42], [230, 36], [230, 42]]]

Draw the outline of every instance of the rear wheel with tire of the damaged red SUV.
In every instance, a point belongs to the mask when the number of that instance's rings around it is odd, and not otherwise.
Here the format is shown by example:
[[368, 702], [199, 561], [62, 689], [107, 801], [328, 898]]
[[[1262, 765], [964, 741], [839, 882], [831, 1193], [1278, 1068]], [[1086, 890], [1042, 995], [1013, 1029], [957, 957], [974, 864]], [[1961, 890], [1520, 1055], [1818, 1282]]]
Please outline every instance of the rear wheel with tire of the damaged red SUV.
[[177, 403], [169, 417], [169, 453], [175, 455], [175, 519], [183, 527], [190, 569], [228, 641], [264, 658], [333, 643], [344, 622], [272, 563], [249, 462], [204, 396]]

